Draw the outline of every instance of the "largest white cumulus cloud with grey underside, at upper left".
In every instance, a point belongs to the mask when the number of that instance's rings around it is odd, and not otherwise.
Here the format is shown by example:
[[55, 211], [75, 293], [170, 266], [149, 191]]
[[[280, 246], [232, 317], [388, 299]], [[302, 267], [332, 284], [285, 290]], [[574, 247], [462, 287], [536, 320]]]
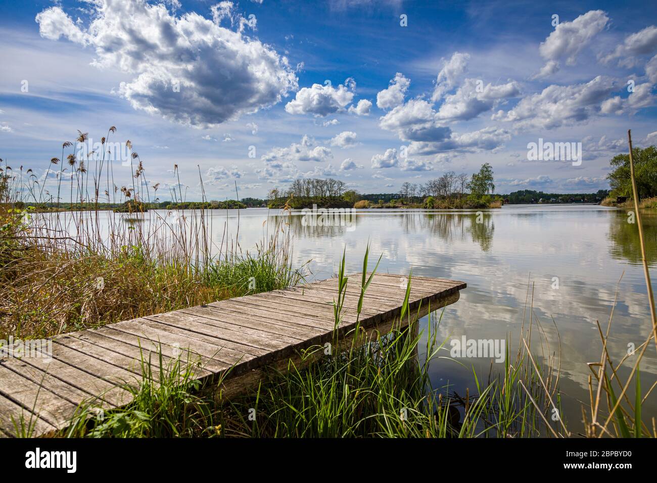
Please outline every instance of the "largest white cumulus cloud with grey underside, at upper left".
[[[89, 26], [50, 7], [36, 16], [39, 32], [93, 47], [93, 65], [135, 76], [118, 89], [135, 109], [211, 127], [279, 103], [298, 88], [285, 57], [242, 33], [254, 22], [235, 13], [231, 2], [213, 7], [214, 20], [196, 12], [176, 16], [164, 4], [145, 0], [88, 5]], [[237, 31], [220, 25], [227, 17]]]

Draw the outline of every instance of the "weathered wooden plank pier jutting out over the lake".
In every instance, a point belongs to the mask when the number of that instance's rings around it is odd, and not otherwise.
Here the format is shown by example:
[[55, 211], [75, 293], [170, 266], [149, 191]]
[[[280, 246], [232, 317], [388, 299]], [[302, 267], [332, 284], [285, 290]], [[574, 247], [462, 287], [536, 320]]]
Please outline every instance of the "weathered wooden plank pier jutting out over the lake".
[[[465, 287], [413, 277], [411, 316], [453, 304]], [[405, 291], [400, 275], [373, 276], [358, 321], [363, 338], [400, 323]], [[350, 275], [337, 329], [343, 343], [355, 328], [360, 294], [361, 274]], [[249, 390], [272, 367], [283, 369], [290, 359], [300, 363], [303, 350], [335, 340], [337, 296], [337, 279], [328, 279], [62, 334], [53, 338], [52, 357], [2, 357], [0, 436], [15, 436], [21, 424], [32, 425], [34, 436], [66, 428], [79, 405], [100, 410], [129, 403], [125, 384], [141, 382], [149, 358], [157, 379], [160, 353], [165, 367], [191, 357], [198, 363], [193, 377], [214, 387], [218, 398]]]

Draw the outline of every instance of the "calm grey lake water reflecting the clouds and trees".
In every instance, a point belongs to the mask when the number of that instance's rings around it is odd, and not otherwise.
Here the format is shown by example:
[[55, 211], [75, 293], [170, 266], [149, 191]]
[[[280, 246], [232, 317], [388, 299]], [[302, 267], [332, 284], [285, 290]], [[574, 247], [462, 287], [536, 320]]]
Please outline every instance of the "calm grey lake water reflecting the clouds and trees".
[[[221, 242], [226, 221], [234, 239], [237, 211], [210, 213], [215, 243]], [[300, 213], [286, 216], [255, 208], [239, 213], [240, 245], [253, 247], [266, 227], [271, 230], [283, 219], [294, 236], [294, 262], [311, 260], [311, 279], [332, 277], [345, 248], [349, 271], [360, 271], [369, 241], [371, 267], [382, 255], [379, 271], [407, 275], [412, 270], [414, 275], [466, 282], [461, 299], [443, 314], [441, 340], [463, 335], [505, 339], [510, 334], [517, 344], [523, 312], [529, 311], [528, 287], [533, 286], [533, 311], [557, 356], [557, 330], [560, 335], [560, 389], [571, 429], [581, 427], [580, 401], [589, 399], [587, 362], [600, 359], [596, 321], [606, 329], [616, 299], [608, 340], [616, 363], [627, 354], [628, 344], [638, 347], [650, 333], [637, 225], [628, 223], [623, 210], [591, 205], [507, 205], [479, 215], [363, 210], [348, 226], [309, 226], [302, 223]], [[654, 266], [657, 216], [645, 214], [644, 227], [648, 260]], [[426, 326], [426, 317], [423, 323]], [[641, 364], [644, 392], [657, 379], [657, 357], [650, 344]], [[446, 347], [449, 350], [449, 344]], [[443, 355], [449, 356], [447, 351]], [[628, 359], [630, 368], [633, 357]], [[480, 380], [487, 379], [490, 359], [460, 360], [466, 367], [447, 359], [433, 363], [434, 387], [449, 384], [459, 394], [465, 387], [473, 391], [473, 365]], [[622, 377], [627, 373], [629, 369], [620, 371]], [[645, 421], [656, 410], [657, 395], [652, 394], [644, 405]]]

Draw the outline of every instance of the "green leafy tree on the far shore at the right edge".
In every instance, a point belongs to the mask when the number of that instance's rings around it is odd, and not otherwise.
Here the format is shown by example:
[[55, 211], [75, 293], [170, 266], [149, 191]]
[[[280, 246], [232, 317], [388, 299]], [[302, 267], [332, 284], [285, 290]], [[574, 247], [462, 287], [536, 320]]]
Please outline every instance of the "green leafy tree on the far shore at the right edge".
[[[634, 175], [637, 181], [639, 200], [657, 196], [657, 148], [632, 150]], [[613, 171], [607, 175], [612, 196], [632, 197], [632, 182], [629, 177], [629, 154], [617, 154], [610, 161]]]

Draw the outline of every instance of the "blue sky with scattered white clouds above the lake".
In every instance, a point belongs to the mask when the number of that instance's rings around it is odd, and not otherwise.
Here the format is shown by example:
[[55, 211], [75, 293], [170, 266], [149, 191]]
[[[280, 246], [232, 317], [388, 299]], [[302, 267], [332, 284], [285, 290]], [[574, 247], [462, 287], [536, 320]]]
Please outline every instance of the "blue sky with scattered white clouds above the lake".
[[[175, 185], [177, 164], [190, 199], [199, 170], [223, 199], [236, 181], [262, 197], [304, 176], [390, 193], [484, 162], [498, 193], [597, 191], [627, 129], [657, 142], [656, 16], [643, 2], [3, 1], [0, 157], [52, 187], [63, 141], [116, 126], [150, 183]], [[539, 139], [581, 143], [581, 162], [528, 160]]]

